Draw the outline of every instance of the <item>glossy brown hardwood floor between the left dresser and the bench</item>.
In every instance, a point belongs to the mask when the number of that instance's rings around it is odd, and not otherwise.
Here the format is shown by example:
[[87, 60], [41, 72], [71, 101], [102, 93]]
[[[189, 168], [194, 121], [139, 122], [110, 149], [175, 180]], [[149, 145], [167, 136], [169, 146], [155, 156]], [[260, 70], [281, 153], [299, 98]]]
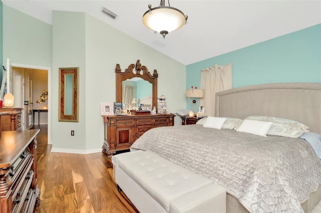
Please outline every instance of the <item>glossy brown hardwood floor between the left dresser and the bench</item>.
[[138, 212], [117, 190], [112, 163], [102, 152], [50, 152], [47, 124], [37, 136], [37, 183], [41, 190], [36, 212]]

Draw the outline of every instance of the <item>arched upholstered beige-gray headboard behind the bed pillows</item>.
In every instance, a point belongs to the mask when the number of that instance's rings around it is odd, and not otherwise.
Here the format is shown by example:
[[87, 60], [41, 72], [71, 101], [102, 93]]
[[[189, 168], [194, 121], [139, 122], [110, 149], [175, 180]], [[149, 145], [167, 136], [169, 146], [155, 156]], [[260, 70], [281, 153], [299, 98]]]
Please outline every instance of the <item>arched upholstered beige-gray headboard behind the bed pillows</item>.
[[321, 83], [268, 83], [216, 93], [215, 116], [288, 118], [321, 134]]

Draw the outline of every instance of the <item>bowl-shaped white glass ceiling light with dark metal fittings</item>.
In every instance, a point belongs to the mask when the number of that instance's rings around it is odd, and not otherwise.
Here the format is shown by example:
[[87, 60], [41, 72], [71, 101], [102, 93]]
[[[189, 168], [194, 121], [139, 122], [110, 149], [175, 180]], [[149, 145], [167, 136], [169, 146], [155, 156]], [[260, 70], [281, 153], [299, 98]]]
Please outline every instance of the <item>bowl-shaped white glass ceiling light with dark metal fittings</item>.
[[187, 15], [175, 8], [171, 7], [170, 0], [168, 0], [169, 6], [165, 6], [165, 0], [161, 0], [159, 6], [151, 8], [151, 4], [148, 4], [148, 10], [142, 16], [142, 22], [149, 29], [159, 32], [165, 36], [176, 29], [181, 28], [187, 23]]

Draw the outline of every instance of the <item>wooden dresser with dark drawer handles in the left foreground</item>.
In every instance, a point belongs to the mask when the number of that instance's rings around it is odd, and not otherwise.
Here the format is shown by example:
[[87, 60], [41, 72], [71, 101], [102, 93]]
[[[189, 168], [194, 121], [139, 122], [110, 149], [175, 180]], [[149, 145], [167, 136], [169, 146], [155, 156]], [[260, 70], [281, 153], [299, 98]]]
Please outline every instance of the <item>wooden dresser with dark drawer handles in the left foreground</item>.
[[[3, 115], [2, 115], [3, 116]], [[0, 139], [0, 213], [33, 212], [37, 187], [37, 140], [40, 130], [3, 131]]]

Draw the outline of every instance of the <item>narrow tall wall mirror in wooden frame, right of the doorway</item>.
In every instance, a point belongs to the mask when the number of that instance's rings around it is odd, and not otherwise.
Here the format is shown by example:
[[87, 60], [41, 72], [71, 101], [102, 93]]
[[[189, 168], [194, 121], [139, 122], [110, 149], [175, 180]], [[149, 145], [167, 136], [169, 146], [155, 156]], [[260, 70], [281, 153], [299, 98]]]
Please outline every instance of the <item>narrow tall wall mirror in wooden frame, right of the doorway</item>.
[[59, 68], [59, 121], [78, 122], [79, 67]]

